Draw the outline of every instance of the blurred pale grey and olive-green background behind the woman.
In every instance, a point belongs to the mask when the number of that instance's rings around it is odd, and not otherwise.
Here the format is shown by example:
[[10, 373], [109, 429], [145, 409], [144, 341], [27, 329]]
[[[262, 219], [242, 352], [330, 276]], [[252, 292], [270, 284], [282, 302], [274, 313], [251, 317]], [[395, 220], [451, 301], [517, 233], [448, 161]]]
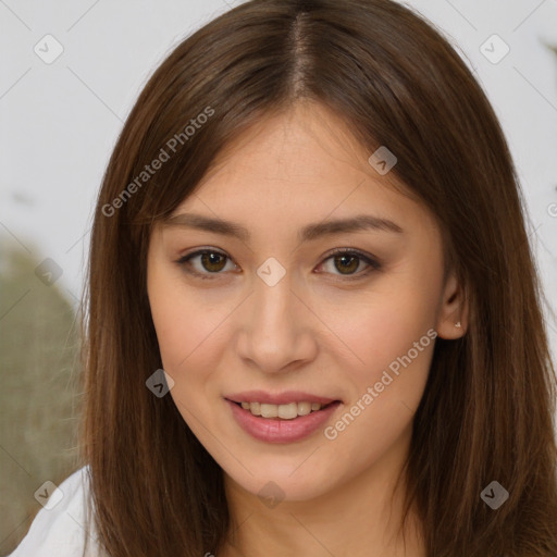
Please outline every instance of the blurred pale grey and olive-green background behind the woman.
[[[92, 210], [154, 67], [225, 0], [0, 0], [0, 555], [78, 468], [77, 307]], [[557, 354], [557, 2], [412, 0], [492, 100], [520, 174]], [[473, 138], [471, 138], [473, 140]]]

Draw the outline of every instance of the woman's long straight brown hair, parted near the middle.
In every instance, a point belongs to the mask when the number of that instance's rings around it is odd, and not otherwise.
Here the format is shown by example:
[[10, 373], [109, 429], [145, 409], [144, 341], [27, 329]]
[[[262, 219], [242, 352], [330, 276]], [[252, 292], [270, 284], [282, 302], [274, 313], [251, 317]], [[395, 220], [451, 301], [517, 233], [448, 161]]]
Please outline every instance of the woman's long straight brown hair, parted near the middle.
[[[146, 253], [153, 223], [218, 153], [301, 100], [335, 111], [370, 154], [396, 153], [392, 172], [436, 215], [466, 289], [468, 331], [436, 339], [406, 467], [406, 509], [419, 509], [428, 555], [555, 557], [556, 376], [520, 184], [471, 72], [389, 0], [242, 4], [177, 46], [127, 117], [98, 198], [83, 302], [83, 458], [99, 541], [112, 557], [223, 545], [222, 470], [172, 397], [146, 387], [162, 368]], [[494, 480], [509, 493], [496, 510], [480, 497]]]

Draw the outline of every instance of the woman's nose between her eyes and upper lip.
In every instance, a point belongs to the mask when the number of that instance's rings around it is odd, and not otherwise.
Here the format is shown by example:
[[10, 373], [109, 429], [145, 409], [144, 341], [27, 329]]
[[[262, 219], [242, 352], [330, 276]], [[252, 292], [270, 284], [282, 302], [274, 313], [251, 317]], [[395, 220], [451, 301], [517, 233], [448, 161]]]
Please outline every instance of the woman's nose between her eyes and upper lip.
[[319, 319], [289, 274], [274, 286], [256, 276], [255, 292], [239, 308], [236, 354], [245, 366], [264, 373], [287, 372], [315, 358]]

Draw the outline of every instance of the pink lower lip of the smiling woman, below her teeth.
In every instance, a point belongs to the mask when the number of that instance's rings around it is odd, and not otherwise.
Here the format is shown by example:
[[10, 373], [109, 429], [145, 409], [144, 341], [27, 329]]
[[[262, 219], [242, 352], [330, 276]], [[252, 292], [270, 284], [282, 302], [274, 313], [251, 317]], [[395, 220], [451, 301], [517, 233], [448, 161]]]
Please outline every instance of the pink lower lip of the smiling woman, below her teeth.
[[307, 416], [298, 416], [293, 420], [280, 418], [261, 418], [253, 416], [249, 410], [225, 399], [232, 409], [232, 414], [239, 426], [252, 437], [265, 443], [293, 443], [309, 437], [319, 430], [342, 403], [333, 403], [322, 410], [311, 412]]

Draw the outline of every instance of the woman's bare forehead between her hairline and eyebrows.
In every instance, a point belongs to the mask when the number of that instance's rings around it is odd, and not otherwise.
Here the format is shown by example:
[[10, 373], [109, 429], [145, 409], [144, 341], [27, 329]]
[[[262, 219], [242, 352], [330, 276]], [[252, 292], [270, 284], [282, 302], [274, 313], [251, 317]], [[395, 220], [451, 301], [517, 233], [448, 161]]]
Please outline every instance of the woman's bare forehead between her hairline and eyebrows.
[[278, 231], [367, 213], [431, 227], [425, 208], [395, 189], [407, 188], [393, 174], [381, 175], [370, 154], [329, 109], [297, 106], [234, 138], [173, 216], [195, 210]]

